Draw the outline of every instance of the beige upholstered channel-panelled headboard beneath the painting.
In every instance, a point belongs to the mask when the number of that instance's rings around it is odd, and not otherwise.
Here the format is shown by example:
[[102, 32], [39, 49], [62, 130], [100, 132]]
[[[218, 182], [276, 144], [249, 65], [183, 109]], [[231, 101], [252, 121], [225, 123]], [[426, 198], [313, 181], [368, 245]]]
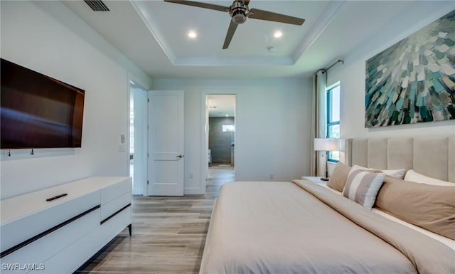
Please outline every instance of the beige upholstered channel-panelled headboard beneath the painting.
[[376, 169], [414, 169], [455, 182], [455, 136], [346, 139], [345, 162]]

